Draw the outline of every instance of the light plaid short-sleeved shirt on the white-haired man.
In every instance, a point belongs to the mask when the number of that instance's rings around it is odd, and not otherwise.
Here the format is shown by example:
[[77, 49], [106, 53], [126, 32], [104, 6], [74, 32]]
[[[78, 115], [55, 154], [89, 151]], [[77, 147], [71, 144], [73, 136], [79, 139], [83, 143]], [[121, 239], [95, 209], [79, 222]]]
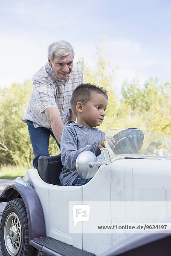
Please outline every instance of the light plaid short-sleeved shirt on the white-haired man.
[[29, 98], [23, 122], [30, 120], [34, 127], [45, 127], [50, 129], [50, 122], [44, 113], [46, 108], [58, 107], [64, 125], [70, 121], [70, 99], [73, 90], [83, 83], [81, 67], [73, 64], [72, 71], [64, 83], [53, 72], [47, 62], [33, 76], [33, 90]]

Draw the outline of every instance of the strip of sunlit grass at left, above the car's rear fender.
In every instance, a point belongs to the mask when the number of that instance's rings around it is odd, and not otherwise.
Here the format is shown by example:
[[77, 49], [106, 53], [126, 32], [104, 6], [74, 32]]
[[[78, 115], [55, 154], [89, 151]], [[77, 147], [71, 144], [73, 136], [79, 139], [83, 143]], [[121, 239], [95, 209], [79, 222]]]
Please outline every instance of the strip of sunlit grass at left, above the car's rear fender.
[[16, 177], [23, 177], [27, 171], [28, 166], [1, 166], [0, 179], [15, 179]]

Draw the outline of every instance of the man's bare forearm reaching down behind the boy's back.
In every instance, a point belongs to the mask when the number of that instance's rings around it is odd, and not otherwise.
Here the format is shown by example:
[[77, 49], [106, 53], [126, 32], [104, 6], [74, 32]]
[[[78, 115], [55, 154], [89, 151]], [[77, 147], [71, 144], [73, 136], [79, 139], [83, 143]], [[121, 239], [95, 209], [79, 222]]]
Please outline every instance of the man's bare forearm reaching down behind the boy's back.
[[55, 135], [55, 138], [60, 144], [61, 132], [64, 129], [64, 124], [61, 120], [61, 115], [59, 113], [58, 107], [46, 108], [45, 114], [50, 121], [53, 134]]

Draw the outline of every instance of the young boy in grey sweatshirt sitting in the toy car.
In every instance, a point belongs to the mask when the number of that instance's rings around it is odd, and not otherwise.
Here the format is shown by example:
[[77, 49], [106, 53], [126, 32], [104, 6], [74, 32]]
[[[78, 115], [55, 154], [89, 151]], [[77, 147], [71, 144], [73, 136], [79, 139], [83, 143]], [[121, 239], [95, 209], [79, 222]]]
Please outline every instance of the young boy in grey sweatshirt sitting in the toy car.
[[104, 132], [95, 126], [103, 122], [107, 102], [107, 91], [93, 84], [81, 84], [73, 91], [70, 103], [77, 123], [67, 125], [61, 134], [62, 186], [81, 186], [91, 179], [83, 179], [78, 175], [75, 162], [85, 150], [92, 151], [96, 156], [101, 154]]

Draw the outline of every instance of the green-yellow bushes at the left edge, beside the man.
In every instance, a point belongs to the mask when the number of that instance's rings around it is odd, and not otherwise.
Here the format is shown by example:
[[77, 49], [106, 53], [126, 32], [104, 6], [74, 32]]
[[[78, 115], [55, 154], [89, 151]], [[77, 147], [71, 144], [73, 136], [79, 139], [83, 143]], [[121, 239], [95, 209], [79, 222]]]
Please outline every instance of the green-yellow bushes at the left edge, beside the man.
[[21, 120], [32, 90], [32, 82], [13, 84], [0, 92], [0, 164], [30, 165], [32, 145]]

